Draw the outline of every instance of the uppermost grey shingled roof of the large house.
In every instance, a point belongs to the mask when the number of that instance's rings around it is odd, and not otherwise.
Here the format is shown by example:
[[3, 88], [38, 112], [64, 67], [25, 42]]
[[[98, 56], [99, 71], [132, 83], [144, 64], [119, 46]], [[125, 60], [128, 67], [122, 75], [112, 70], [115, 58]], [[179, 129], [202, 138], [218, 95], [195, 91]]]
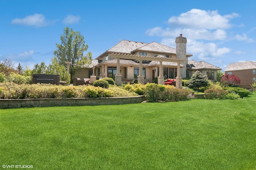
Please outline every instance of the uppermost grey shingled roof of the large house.
[[[152, 51], [157, 53], [171, 53], [176, 54], [176, 49], [168, 47], [166, 45], [162, 45], [160, 43], [152, 42], [152, 43], [143, 43], [138, 41], [129, 41], [122, 40], [106, 52], [102, 53], [102, 55], [106, 55], [106, 53], [114, 52], [114, 53], [134, 53], [136, 51]], [[100, 55], [99, 57], [101, 57]], [[191, 54], [186, 53], [188, 57], [191, 57]], [[96, 58], [98, 59], [98, 57]]]

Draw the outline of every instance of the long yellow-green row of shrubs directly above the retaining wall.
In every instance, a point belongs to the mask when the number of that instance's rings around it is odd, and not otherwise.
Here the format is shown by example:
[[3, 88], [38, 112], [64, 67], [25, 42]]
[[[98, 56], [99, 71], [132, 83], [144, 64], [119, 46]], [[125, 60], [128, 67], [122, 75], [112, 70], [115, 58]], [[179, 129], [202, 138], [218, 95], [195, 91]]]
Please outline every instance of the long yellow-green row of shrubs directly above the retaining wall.
[[[105, 81], [105, 80], [104, 80]], [[0, 83], [0, 99], [110, 98], [139, 96], [118, 86], [58, 86], [52, 84]]]

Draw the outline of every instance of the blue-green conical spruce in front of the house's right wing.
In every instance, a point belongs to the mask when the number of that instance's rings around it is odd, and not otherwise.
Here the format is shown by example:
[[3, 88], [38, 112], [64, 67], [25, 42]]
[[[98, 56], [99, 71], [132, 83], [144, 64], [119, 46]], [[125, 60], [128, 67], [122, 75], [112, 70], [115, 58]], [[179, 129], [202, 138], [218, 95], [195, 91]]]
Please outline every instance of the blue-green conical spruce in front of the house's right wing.
[[209, 85], [209, 80], [206, 75], [203, 76], [202, 72], [196, 71], [186, 82], [188, 88], [200, 88]]

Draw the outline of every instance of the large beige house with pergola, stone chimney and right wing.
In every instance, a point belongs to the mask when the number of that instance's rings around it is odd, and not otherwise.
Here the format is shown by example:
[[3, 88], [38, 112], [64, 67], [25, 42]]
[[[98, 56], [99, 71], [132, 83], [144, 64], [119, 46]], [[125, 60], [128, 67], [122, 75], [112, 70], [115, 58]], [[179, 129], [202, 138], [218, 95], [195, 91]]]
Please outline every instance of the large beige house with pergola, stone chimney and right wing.
[[216, 70], [221, 68], [208, 63], [201, 67], [200, 62], [188, 62], [192, 55], [186, 53], [186, 38], [181, 34], [175, 42], [176, 49], [156, 42], [122, 40], [75, 76], [88, 78], [94, 73], [97, 78], [113, 78], [116, 84], [121, 84], [125, 78], [142, 84], [152, 82], [156, 77], [158, 84], [164, 84], [166, 78], [176, 78], [176, 86], [181, 88], [182, 78], [191, 77], [196, 69], [203, 69], [211, 80], [216, 80]]

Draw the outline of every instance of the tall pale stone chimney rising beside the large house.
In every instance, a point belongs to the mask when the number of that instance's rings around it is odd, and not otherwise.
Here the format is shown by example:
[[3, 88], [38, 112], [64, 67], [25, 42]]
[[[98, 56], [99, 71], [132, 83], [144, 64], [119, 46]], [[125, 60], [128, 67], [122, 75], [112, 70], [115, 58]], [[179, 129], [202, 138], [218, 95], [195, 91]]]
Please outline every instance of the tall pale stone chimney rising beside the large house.
[[188, 64], [188, 57], [186, 57], [187, 39], [186, 37], [182, 37], [182, 34], [180, 34], [180, 37], [176, 38], [175, 43], [176, 43], [176, 58], [185, 60], [183, 63], [181, 63], [185, 67], [180, 68], [180, 76], [182, 78], [186, 78], [186, 65]]

